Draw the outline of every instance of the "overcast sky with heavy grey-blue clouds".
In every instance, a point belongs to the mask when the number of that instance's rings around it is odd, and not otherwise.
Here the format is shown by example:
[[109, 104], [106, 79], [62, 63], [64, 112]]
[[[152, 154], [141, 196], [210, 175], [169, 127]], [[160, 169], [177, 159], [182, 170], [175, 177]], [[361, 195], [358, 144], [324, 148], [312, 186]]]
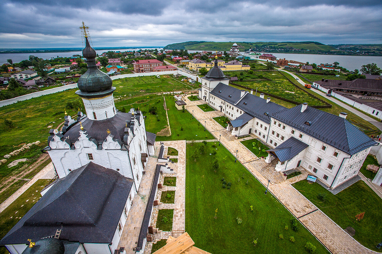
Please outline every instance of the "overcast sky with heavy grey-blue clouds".
[[380, 0], [2, 0], [0, 48], [186, 41], [382, 44]]

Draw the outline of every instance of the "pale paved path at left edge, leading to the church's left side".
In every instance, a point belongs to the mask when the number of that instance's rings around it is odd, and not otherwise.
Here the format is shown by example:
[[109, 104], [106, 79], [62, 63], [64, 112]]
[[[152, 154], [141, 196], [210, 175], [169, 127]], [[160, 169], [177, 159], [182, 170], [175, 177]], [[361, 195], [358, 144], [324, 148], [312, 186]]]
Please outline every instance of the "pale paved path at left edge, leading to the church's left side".
[[37, 173], [30, 181], [24, 184], [20, 189], [12, 194], [7, 200], [0, 204], [0, 212], [4, 211], [13, 201], [15, 201], [21, 194], [23, 194], [29, 187], [31, 187], [39, 179], [53, 179], [55, 171], [53, 163], [50, 162], [39, 173]]

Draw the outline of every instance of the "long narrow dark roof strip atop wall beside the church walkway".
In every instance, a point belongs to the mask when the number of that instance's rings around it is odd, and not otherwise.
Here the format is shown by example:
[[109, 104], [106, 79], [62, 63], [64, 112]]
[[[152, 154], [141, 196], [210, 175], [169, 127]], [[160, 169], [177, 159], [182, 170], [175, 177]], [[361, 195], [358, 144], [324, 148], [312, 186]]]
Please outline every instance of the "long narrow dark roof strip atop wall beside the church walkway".
[[157, 164], [157, 167], [155, 168], [154, 179], [152, 180], [150, 195], [149, 195], [149, 199], [147, 200], [146, 211], [144, 212], [142, 226], [138, 236], [138, 244], [137, 244], [137, 248], [135, 249], [135, 252], [139, 252], [141, 251], [142, 248], [144, 248], [143, 240], [147, 236], [147, 230], [150, 225], [151, 212], [152, 212], [152, 209], [154, 208], [154, 199], [155, 199], [155, 193], [158, 187], [157, 184], [159, 181], [160, 167], [161, 165]]

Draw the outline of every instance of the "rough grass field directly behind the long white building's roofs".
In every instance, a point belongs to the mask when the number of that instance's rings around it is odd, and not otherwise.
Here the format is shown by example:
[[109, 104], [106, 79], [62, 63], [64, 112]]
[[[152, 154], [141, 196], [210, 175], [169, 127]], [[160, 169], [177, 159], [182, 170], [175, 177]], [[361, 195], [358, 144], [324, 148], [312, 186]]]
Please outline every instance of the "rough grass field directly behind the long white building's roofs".
[[[235, 83], [248, 86], [255, 91], [259, 89], [292, 101], [308, 102], [309, 105], [324, 105], [324, 103], [309, 96], [303, 90], [296, 88], [280, 72], [253, 72], [253, 74], [246, 72], [243, 75], [240, 75], [239, 72], [238, 77], [243, 77], [243, 81], [235, 81]], [[264, 80], [264, 78], [271, 80]]]

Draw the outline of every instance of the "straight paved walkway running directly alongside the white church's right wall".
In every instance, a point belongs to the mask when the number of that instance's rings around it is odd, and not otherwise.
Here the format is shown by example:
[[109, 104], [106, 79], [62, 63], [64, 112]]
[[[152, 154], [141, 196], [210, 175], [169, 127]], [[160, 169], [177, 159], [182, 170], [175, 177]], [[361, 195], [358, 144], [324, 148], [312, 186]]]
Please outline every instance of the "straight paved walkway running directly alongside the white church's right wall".
[[159, 142], [155, 142], [155, 147], [155, 155], [150, 156], [147, 160], [145, 167], [146, 174], [142, 176], [138, 193], [133, 198], [133, 205], [127, 215], [126, 223], [121, 233], [121, 239], [118, 243], [118, 249], [120, 247], [125, 247], [126, 254], [135, 254], [133, 249], [137, 246], [139, 231], [141, 230], [144, 212], [146, 211], [155, 167], [157, 166], [157, 158], [160, 150]]

